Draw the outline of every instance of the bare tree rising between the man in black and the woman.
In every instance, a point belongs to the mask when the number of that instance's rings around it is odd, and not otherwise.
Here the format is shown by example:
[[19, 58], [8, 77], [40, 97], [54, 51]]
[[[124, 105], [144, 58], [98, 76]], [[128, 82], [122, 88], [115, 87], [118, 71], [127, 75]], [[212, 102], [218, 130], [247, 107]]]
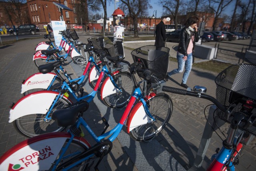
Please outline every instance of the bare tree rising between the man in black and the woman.
[[178, 29], [178, 14], [179, 14], [179, 7], [180, 7], [180, 0], [160, 0], [159, 3], [166, 8], [166, 10], [171, 14], [174, 24], [175, 30]]

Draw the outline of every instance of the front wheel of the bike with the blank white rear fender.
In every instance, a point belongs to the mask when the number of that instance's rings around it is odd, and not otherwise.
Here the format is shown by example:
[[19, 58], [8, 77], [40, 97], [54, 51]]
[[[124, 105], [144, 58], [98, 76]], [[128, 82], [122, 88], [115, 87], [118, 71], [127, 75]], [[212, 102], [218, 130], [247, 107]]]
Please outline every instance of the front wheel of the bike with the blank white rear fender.
[[[122, 92], [117, 92], [104, 97], [103, 101], [108, 107], [121, 108], [128, 103], [134, 91], [132, 77], [128, 72], [121, 72], [114, 76], [116, 85], [122, 89]], [[112, 91], [112, 90], [111, 90]]]

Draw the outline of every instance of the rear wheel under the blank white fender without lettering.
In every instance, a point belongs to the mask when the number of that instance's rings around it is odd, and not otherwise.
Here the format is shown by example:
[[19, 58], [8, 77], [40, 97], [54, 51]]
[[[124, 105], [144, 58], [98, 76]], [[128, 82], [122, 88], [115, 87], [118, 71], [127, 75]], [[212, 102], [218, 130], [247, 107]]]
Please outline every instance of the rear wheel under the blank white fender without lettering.
[[[68, 105], [71, 105], [68, 100], [60, 98], [54, 105], [52, 111], [62, 109]], [[44, 121], [45, 115], [46, 113], [37, 113], [22, 116], [14, 121], [14, 127], [27, 137], [34, 137], [43, 133], [59, 132], [65, 128], [59, 127], [52, 119]]]

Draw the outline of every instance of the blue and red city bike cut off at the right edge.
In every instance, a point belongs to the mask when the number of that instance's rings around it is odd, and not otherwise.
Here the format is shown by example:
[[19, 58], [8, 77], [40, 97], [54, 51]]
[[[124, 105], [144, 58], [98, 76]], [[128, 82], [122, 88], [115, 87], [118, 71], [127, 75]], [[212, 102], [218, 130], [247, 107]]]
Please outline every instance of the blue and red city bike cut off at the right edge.
[[[222, 148], [216, 149], [207, 171], [234, 171], [243, 146], [256, 135], [256, 66], [238, 64], [226, 68], [215, 78], [216, 99], [206, 95], [206, 87], [187, 90], [163, 86], [162, 91], [190, 95], [212, 101], [218, 108], [214, 117], [230, 124]], [[211, 125], [212, 127], [214, 125]]]

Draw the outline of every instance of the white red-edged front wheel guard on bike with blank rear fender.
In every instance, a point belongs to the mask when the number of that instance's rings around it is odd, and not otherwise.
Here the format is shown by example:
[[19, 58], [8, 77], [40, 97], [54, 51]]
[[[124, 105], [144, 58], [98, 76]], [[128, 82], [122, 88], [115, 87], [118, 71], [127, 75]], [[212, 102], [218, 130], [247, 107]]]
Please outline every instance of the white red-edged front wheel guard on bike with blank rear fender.
[[[119, 71], [116, 71], [113, 73], [115, 76], [118, 74]], [[107, 77], [104, 82], [102, 83], [101, 89], [100, 89], [100, 95], [101, 99], [104, 99], [106, 96], [110, 94], [118, 93], [118, 89], [114, 86], [114, 84], [111, 82], [110, 77]]]

